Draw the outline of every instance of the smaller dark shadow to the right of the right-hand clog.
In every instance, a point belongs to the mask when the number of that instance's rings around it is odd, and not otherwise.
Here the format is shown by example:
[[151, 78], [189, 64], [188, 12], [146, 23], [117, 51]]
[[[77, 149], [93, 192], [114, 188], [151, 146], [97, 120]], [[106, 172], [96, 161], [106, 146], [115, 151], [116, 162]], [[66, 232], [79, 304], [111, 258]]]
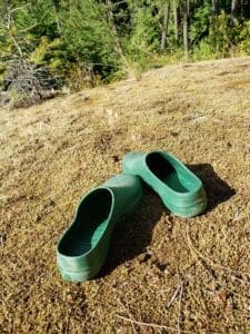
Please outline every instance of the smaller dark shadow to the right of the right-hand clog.
[[208, 197], [208, 210], [212, 210], [236, 195], [236, 190], [222, 180], [210, 164], [187, 165], [203, 183]]

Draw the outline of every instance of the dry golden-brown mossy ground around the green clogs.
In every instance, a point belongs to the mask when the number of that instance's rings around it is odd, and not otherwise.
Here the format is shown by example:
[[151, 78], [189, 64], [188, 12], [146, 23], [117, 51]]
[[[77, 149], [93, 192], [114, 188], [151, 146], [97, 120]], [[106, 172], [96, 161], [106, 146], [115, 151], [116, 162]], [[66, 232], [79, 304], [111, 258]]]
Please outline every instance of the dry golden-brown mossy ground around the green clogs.
[[[250, 58], [169, 66], [29, 109], [0, 109], [1, 333], [250, 332]], [[97, 279], [71, 284], [54, 245], [124, 153], [166, 149], [208, 210], [147, 190]]]

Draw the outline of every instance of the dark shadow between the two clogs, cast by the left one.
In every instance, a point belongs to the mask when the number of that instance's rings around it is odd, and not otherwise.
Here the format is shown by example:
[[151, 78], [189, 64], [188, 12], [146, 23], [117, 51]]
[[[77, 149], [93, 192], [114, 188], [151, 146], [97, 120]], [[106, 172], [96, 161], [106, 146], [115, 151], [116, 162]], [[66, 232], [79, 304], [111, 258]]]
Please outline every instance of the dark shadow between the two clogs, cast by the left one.
[[157, 194], [147, 187], [143, 190], [141, 204], [134, 214], [117, 225], [106, 264], [96, 278], [106, 276], [117, 266], [147, 252], [153, 227], [166, 209]]

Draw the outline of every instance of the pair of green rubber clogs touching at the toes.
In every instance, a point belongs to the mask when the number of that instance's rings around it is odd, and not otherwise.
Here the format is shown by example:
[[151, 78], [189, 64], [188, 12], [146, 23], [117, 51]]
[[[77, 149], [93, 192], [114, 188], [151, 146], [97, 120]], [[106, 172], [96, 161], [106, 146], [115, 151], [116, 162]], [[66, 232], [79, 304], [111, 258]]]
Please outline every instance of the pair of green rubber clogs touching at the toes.
[[142, 195], [142, 178], [176, 215], [192, 217], [204, 210], [201, 180], [174, 156], [164, 151], [130, 153], [123, 174], [89, 191], [57, 246], [57, 263], [67, 281], [82, 282], [100, 271], [118, 219], [131, 214]]

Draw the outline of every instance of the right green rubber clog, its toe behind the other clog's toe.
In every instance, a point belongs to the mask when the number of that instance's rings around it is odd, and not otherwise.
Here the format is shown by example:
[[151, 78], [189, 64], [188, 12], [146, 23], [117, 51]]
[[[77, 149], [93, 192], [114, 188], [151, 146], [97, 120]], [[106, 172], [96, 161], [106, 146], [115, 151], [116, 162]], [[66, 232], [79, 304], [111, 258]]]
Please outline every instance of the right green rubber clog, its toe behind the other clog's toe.
[[201, 180], [167, 151], [130, 153], [124, 156], [122, 169], [140, 176], [178, 216], [192, 217], [206, 209]]

